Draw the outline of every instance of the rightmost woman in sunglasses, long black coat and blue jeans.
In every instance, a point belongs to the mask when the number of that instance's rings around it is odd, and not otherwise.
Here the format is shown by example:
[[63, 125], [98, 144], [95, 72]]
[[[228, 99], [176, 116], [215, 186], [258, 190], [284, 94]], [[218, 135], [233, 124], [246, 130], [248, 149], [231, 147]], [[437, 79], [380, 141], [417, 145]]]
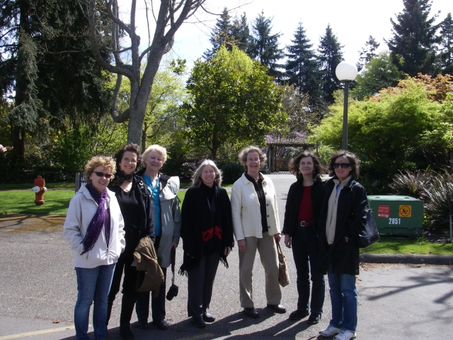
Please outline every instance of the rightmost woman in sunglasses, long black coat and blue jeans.
[[360, 161], [355, 154], [341, 150], [328, 161], [329, 175], [323, 187], [324, 203], [319, 219], [321, 261], [327, 271], [331, 293], [332, 319], [321, 336], [335, 340], [355, 338], [357, 327], [357, 289], [359, 248], [355, 244], [366, 223], [365, 188], [357, 182]]

